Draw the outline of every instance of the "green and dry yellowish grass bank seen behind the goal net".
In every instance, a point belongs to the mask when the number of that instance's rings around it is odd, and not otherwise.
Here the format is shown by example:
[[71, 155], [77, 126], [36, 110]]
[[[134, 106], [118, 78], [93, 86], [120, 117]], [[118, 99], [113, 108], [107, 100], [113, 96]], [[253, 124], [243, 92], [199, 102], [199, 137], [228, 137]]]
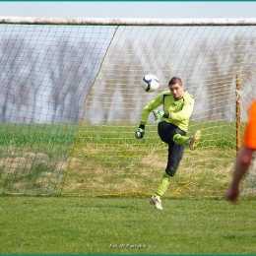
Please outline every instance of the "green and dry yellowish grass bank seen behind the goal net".
[[[167, 146], [160, 142], [156, 124], [147, 125], [143, 140], [135, 139], [136, 128], [132, 124], [3, 124], [1, 194], [152, 194], [165, 168]], [[191, 123], [188, 134], [197, 129], [202, 131], [198, 149], [186, 149], [168, 196], [220, 198], [229, 183], [235, 158], [234, 123]], [[255, 187], [254, 182], [248, 184], [249, 189]]]

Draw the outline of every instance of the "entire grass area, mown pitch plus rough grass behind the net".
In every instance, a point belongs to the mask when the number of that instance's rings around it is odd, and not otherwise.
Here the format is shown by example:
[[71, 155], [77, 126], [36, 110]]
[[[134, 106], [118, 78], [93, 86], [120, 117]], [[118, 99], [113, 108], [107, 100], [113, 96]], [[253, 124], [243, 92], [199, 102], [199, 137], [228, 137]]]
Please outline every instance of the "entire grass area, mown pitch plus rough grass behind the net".
[[[132, 125], [83, 126], [79, 140], [78, 129], [0, 127], [1, 254], [256, 253], [255, 176], [239, 204], [223, 200], [235, 157], [233, 124], [192, 126], [202, 142], [185, 152], [163, 211], [149, 204], [166, 163], [156, 126], [139, 141]], [[140, 193], [111, 196], [130, 188]], [[3, 196], [19, 193], [40, 196]]]

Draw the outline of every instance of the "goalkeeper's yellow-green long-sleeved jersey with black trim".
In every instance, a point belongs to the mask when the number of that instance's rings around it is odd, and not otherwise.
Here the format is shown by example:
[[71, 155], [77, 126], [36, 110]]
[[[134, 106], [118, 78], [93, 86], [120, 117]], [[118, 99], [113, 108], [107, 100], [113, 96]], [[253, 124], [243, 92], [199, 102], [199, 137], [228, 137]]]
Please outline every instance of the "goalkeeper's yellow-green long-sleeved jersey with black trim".
[[169, 113], [169, 118], [162, 117], [160, 121], [165, 121], [176, 125], [184, 132], [188, 130], [189, 118], [193, 112], [195, 99], [188, 92], [184, 91], [182, 97], [175, 99], [169, 91], [161, 93], [149, 102], [142, 111], [141, 123], [146, 124], [151, 111], [162, 104], [164, 113]]

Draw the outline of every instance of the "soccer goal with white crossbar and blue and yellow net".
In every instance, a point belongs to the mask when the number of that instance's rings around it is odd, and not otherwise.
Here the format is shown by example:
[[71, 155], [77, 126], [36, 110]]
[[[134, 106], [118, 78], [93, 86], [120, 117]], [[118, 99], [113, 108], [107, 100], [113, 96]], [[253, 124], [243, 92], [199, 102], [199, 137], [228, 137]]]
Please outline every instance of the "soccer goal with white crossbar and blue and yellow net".
[[[142, 108], [180, 77], [195, 98], [166, 197], [222, 198], [256, 96], [256, 19], [0, 17], [0, 193], [144, 196], [167, 161]], [[160, 79], [152, 94], [146, 74]], [[237, 84], [239, 89], [237, 89]], [[243, 195], [255, 195], [254, 164]]]

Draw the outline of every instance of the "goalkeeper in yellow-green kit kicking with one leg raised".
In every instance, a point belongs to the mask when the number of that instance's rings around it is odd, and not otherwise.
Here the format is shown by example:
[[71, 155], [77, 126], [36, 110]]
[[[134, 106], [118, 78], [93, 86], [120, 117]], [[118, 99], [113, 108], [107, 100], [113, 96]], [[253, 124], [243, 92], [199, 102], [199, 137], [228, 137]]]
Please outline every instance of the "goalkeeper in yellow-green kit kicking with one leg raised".
[[149, 102], [142, 111], [141, 123], [135, 137], [142, 139], [145, 135], [145, 125], [148, 117], [154, 109], [162, 104], [162, 110], [155, 110], [156, 120], [160, 119], [158, 132], [161, 141], [168, 144], [168, 160], [163, 172], [157, 192], [151, 198], [151, 204], [156, 209], [162, 210], [160, 198], [167, 190], [171, 177], [175, 175], [179, 162], [183, 157], [185, 146], [195, 150], [201, 132], [197, 131], [194, 136], [186, 136], [189, 118], [194, 108], [194, 98], [184, 90], [180, 78], [173, 77], [168, 83], [169, 91], [161, 93]]

